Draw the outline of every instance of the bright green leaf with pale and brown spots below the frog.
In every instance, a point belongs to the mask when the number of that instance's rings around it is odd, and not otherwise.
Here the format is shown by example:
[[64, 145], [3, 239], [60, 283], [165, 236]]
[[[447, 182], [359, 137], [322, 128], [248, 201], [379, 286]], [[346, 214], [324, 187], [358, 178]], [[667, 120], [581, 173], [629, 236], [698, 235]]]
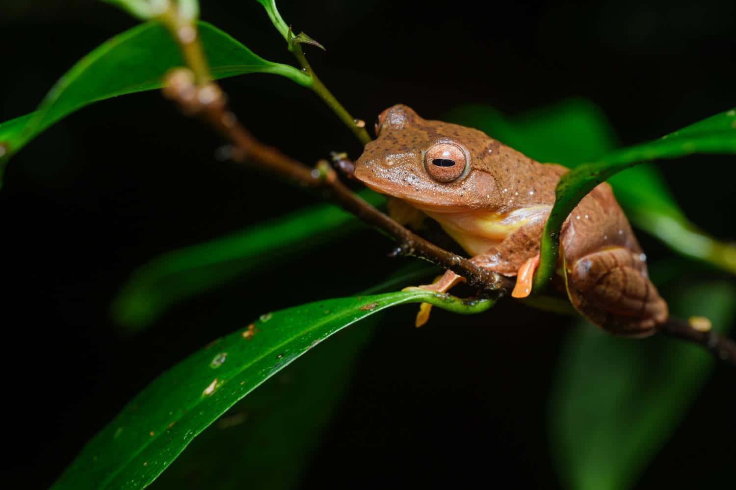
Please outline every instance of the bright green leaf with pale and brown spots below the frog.
[[493, 304], [417, 289], [263, 314], [156, 378], [85, 445], [52, 488], [144, 488], [197, 434], [311, 347], [378, 311], [421, 302], [464, 314]]

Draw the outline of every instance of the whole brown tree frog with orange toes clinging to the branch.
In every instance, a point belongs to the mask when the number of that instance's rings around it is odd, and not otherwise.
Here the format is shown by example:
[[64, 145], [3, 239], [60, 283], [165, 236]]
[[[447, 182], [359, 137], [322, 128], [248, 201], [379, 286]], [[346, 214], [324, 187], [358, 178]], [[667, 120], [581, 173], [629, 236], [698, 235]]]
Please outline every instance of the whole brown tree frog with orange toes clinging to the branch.
[[[530, 295], [542, 231], [568, 169], [537, 162], [477, 129], [425, 120], [403, 104], [378, 115], [375, 133], [353, 175], [387, 196], [389, 215], [414, 228], [426, 218], [436, 221], [473, 264], [515, 277], [512, 297]], [[552, 283], [591, 323], [640, 337], [667, 321], [667, 303], [609, 184], [578, 203], [559, 243]], [[420, 287], [445, 293], [462, 281], [447, 270]], [[428, 311], [422, 305], [417, 326]]]

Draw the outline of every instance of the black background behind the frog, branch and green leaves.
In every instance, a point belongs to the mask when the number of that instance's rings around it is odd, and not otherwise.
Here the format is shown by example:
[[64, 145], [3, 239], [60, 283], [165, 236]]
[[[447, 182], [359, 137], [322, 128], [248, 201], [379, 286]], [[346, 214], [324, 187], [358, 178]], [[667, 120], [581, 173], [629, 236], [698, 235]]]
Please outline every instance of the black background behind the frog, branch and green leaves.
[[[583, 96], [630, 144], [735, 105], [732, 0], [479, 3], [283, 0], [280, 10], [328, 48], [308, 49], [314, 68], [369, 122], [397, 102], [439, 118], [468, 102], [514, 115]], [[205, 20], [291, 62], [255, 1], [202, 4]], [[82, 55], [134, 24], [91, 0], [3, 1], [0, 120], [30, 112]], [[287, 154], [305, 162], [334, 149], [359, 154], [328, 109], [288, 80], [222, 84], [241, 120]], [[134, 267], [317, 201], [217, 162], [220, 144], [158, 93], [143, 93], [71, 115], [10, 162], [0, 191], [4, 459], [24, 486], [52, 483], [133, 394], [197, 347], [263, 311], [358, 291], [397, 267], [385, 257], [390, 243], [367, 231], [177, 306], [144, 334], [121, 335], [107, 308]], [[663, 168], [687, 215], [734, 239], [732, 159]], [[652, 259], [668, 254], [642, 242]], [[567, 320], [503, 305], [460, 320], [436, 311], [415, 331], [413, 315], [406, 307], [386, 317], [364, 350], [305, 488], [475, 478], [556, 488], [545, 403]], [[732, 472], [732, 438], [704, 434], [733, 424], [733, 376], [715, 370], [640, 488]]]

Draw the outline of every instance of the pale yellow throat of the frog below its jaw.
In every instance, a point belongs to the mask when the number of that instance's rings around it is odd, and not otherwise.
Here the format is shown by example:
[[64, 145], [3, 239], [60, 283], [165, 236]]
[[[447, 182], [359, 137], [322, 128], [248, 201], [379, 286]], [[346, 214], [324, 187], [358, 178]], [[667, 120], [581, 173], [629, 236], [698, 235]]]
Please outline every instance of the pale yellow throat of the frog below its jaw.
[[485, 253], [503, 242], [519, 228], [546, 220], [552, 206], [530, 206], [506, 214], [484, 210], [470, 212], [423, 211], [439, 223], [445, 233], [460, 244], [471, 256]]

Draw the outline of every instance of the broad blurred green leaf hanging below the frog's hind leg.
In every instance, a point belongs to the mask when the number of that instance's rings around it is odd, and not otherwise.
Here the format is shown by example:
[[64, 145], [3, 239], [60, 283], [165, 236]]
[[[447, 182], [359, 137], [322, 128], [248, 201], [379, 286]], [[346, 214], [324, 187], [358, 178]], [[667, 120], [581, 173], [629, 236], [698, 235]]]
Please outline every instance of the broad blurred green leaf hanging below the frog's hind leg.
[[[719, 331], [736, 314], [736, 288], [691, 285], [675, 314], [704, 314]], [[562, 349], [552, 386], [551, 454], [565, 488], [631, 488], [675, 430], [714, 359], [698, 345], [621, 339], [582, 322]]]

